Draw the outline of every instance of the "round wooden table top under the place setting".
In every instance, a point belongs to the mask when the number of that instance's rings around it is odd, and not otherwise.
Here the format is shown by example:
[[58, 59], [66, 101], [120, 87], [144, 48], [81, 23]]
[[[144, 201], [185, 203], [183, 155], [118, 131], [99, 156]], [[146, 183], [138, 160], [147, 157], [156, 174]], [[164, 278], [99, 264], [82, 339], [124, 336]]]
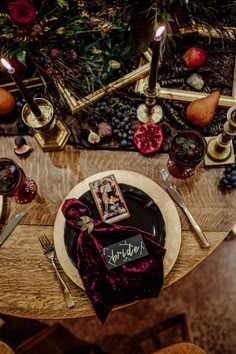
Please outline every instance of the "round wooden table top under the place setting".
[[[67, 145], [63, 151], [43, 152], [34, 138], [27, 137], [33, 152], [28, 157], [14, 154], [14, 137], [1, 137], [0, 156], [14, 159], [38, 185], [38, 195], [29, 204], [19, 205], [4, 199], [0, 228], [18, 212], [26, 216], [0, 248], [0, 313], [38, 319], [78, 318], [94, 315], [86, 293], [60, 272], [71, 290], [75, 308], [67, 309], [55, 272], [42, 253], [38, 236], [45, 233], [53, 240], [57, 211], [68, 192], [84, 178], [100, 171], [125, 169], [141, 173], [163, 186], [160, 170], [167, 155], [146, 157], [138, 152], [79, 150]], [[199, 166], [193, 177], [172, 178], [208, 240], [201, 249], [190, 223], [177, 207], [182, 225], [182, 244], [164, 288], [184, 277], [224, 240], [235, 224], [236, 191], [222, 193], [218, 182], [223, 167]], [[164, 188], [164, 186], [163, 186]], [[175, 235], [173, 235], [175, 237]]]

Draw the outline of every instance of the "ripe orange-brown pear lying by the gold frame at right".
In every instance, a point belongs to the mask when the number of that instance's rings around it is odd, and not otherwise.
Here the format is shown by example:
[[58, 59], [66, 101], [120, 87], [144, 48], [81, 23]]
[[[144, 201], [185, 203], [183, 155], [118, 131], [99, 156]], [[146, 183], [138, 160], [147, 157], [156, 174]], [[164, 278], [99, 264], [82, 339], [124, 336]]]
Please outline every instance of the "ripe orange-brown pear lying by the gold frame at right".
[[220, 92], [214, 91], [207, 97], [191, 102], [186, 109], [187, 119], [200, 127], [209, 124], [214, 117], [219, 99]]

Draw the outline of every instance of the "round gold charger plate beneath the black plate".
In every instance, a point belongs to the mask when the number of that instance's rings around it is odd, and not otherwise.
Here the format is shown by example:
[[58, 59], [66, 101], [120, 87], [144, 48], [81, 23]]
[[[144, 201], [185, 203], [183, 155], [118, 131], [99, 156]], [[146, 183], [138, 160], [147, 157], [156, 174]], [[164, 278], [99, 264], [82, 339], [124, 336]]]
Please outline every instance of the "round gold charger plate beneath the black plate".
[[[96, 173], [82, 182], [78, 183], [65, 197], [80, 198], [85, 192], [89, 190], [89, 183], [102, 177], [114, 174], [118, 183], [124, 183], [133, 187], [139, 188], [152, 198], [154, 203], [159, 207], [166, 227], [165, 249], [164, 257], [164, 277], [171, 271], [175, 261], [178, 257], [181, 245], [181, 224], [179, 214], [174, 202], [170, 196], [157, 183], [150, 178], [141, 175], [137, 172], [127, 170], [109, 170]], [[64, 199], [64, 200], [65, 200]], [[62, 202], [55, 219], [54, 224], [54, 244], [58, 261], [67, 274], [67, 276], [80, 288], [84, 289], [82, 280], [79, 276], [77, 268], [73, 265], [68, 256], [64, 243], [64, 226], [65, 218], [62, 214]]]

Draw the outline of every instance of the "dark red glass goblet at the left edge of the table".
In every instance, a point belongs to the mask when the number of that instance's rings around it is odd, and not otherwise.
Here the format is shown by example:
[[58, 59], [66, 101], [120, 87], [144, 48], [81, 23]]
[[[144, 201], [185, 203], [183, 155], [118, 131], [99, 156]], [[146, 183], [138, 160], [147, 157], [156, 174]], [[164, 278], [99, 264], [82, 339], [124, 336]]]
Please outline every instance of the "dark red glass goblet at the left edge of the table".
[[15, 161], [0, 158], [0, 194], [14, 197], [17, 203], [29, 203], [37, 194], [37, 185]]

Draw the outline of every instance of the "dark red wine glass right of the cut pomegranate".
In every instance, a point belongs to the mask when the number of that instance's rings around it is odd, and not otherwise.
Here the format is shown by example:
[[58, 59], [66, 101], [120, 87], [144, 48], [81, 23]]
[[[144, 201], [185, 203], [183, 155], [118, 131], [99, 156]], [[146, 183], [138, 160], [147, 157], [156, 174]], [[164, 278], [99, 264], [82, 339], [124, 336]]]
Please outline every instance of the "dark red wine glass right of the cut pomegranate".
[[202, 134], [194, 129], [181, 130], [170, 144], [168, 171], [177, 178], [192, 176], [206, 151], [207, 142]]

